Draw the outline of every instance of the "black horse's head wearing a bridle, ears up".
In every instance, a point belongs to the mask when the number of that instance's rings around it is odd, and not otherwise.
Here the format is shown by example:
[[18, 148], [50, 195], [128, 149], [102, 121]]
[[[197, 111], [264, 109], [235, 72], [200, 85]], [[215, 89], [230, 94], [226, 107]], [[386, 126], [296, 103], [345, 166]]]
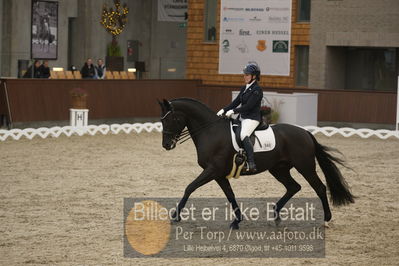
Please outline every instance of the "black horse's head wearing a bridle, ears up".
[[182, 113], [176, 112], [170, 102], [163, 100], [158, 101], [162, 109], [162, 147], [171, 150], [176, 147], [181, 132], [186, 126], [185, 118]]

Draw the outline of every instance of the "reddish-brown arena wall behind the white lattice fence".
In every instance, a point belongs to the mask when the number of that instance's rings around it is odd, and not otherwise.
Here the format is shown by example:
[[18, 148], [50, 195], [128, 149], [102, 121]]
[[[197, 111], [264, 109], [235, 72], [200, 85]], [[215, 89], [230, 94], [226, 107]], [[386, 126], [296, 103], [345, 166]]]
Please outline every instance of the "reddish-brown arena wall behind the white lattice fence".
[[[27, 80], [2, 79], [0, 114], [12, 122], [69, 120], [72, 88], [85, 89], [90, 119], [158, 117], [157, 99], [190, 97], [217, 111], [238, 86], [199, 80]], [[263, 88], [280, 93], [318, 93], [318, 121], [394, 124], [396, 93]]]

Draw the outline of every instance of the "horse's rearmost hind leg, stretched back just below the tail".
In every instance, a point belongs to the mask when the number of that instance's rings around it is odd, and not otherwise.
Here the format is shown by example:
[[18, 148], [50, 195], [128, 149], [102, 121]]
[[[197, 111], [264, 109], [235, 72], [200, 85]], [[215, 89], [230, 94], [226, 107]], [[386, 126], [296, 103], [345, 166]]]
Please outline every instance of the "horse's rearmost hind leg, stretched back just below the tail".
[[[303, 164], [306, 165], [306, 164]], [[328, 200], [327, 200], [327, 188], [321, 182], [320, 177], [317, 175], [316, 172], [316, 165], [313, 163], [313, 166], [310, 168], [306, 167], [299, 167], [299, 169], [296, 167], [298, 172], [303, 175], [306, 179], [306, 181], [309, 182], [310, 186], [314, 189], [316, 192], [317, 196], [320, 198], [321, 203], [323, 204], [323, 210], [324, 210], [324, 221], [328, 222], [331, 220], [331, 210], [330, 206], [328, 205]]]

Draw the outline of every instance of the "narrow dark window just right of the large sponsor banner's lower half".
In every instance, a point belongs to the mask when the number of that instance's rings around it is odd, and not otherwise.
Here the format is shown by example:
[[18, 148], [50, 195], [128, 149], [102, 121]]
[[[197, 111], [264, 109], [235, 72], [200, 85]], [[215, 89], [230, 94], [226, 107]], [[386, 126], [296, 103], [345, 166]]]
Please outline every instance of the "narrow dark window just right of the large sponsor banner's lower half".
[[308, 86], [309, 46], [295, 46], [295, 86]]

